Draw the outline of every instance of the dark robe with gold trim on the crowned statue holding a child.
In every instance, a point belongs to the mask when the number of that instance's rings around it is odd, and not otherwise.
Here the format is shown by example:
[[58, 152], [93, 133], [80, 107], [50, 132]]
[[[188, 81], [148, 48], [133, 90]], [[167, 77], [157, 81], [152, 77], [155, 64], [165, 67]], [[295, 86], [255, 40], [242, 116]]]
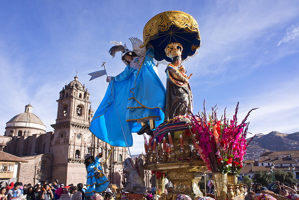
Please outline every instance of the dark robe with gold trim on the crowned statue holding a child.
[[[193, 96], [189, 81], [175, 66], [169, 64], [165, 70], [167, 75], [165, 119], [173, 119], [175, 116], [186, 116], [193, 110]], [[185, 102], [185, 104], [183, 103]]]

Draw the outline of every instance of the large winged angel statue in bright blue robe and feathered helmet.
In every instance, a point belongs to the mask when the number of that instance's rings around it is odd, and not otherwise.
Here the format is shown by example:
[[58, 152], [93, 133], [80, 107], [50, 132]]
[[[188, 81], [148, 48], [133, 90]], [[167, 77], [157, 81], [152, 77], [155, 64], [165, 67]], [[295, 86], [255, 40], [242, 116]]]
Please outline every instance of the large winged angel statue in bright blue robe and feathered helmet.
[[121, 51], [126, 68], [107, 78], [111, 89], [108, 87], [89, 127], [95, 136], [112, 146], [132, 146], [132, 133], [152, 135], [151, 129], [164, 121], [166, 90], [153, 62], [154, 50], [150, 44], [142, 47], [143, 42], [136, 37], [129, 40], [133, 51], [126, 44], [110, 42], [115, 46], [109, 53], [115, 57]]

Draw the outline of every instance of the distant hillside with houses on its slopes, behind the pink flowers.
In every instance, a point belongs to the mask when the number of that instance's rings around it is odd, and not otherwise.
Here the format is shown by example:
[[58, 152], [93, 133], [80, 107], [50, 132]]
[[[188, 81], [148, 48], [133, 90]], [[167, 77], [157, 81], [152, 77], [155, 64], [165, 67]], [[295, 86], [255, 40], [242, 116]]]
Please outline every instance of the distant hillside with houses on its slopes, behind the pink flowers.
[[299, 132], [292, 134], [271, 131], [255, 137], [248, 146], [244, 160], [256, 160], [267, 151], [299, 150]]

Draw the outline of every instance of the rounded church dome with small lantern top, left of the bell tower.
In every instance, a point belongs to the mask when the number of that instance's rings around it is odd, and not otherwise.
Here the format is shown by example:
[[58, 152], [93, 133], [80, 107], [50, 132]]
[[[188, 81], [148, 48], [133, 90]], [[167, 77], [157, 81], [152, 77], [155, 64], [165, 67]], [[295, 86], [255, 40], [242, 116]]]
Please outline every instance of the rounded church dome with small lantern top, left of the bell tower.
[[32, 109], [33, 106], [29, 103], [25, 106], [24, 113], [20, 113], [6, 122], [6, 127], [21, 126], [38, 128], [46, 131], [46, 126], [38, 116], [32, 113]]

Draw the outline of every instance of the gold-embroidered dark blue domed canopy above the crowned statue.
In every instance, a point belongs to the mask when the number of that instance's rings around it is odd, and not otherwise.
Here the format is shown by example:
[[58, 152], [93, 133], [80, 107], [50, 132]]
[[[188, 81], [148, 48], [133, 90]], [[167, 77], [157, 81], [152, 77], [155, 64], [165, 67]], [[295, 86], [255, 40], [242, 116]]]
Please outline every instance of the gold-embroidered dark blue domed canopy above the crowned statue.
[[147, 22], [143, 30], [144, 44], [154, 46], [155, 60], [171, 58], [165, 54], [165, 47], [173, 42], [183, 47], [182, 59], [195, 54], [200, 47], [200, 34], [196, 20], [189, 14], [181, 11], [166, 11], [154, 16]]

